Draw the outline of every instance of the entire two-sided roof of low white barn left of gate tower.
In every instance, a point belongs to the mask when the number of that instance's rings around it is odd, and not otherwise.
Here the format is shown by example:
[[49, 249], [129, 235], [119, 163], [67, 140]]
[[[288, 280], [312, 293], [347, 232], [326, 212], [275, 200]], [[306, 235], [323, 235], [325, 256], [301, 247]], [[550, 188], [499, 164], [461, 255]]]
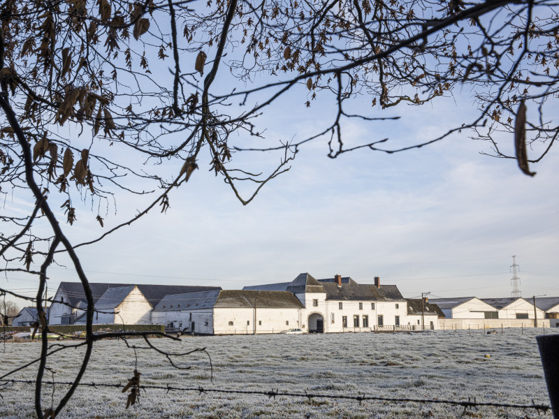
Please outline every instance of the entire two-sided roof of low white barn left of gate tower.
[[167, 295], [154, 311], [179, 311], [207, 308], [302, 309], [303, 304], [289, 291], [222, 290], [204, 293]]

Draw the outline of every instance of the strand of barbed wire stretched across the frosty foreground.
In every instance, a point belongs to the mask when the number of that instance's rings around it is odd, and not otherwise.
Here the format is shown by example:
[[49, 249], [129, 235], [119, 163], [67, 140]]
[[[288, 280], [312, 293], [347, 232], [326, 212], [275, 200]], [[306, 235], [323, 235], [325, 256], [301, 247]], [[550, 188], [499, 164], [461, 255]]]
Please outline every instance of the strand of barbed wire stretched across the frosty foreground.
[[[0, 385], [6, 385], [8, 383], [22, 383], [22, 384], [35, 384], [36, 381], [33, 380], [2, 380]], [[44, 381], [44, 384], [50, 385], [72, 385], [70, 381]], [[84, 387], [109, 387], [109, 388], [124, 388], [124, 384], [121, 383], [79, 383], [78, 385]], [[467, 408], [472, 407], [477, 409], [482, 406], [490, 407], [508, 407], [513, 409], [535, 409], [537, 413], [546, 412], [551, 409], [551, 406], [546, 404], [536, 404], [532, 399], [532, 404], [513, 404], [513, 403], [496, 403], [496, 402], [477, 402], [475, 397], [468, 397], [467, 400], [448, 400], [448, 399], [412, 399], [408, 397], [381, 397], [381, 396], [368, 396], [368, 395], [336, 395], [327, 393], [312, 393], [312, 392], [283, 392], [280, 390], [228, 390], [224, 388], [203, 388], [198, 387], [175, 387], [172, 385], [138, 385], [142, 390], [166, 390], [170, 391], [182, 391], [182, 392], [198, 392], [203, 393], [219, 393], [219, 394], [235, 394], [235, 395], [262, 395], [268, 398], [275, 399], [276, 397], [300, 397], [306, 399], [344, 399], [344, 400], [355, 400], [361, 404], [362, 402], [391, 402], [391, 403], [421, 403], [421, 404], [449, 404], [453, 406], [462, 406], [464, 411]]]

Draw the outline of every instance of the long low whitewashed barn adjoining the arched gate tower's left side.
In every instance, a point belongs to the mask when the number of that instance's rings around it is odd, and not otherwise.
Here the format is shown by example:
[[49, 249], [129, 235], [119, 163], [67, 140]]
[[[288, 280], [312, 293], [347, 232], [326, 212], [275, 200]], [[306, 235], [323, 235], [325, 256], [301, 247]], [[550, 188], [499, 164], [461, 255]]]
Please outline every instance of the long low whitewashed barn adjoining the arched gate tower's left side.
[[279, 333], [301, 327], [303, 308], [286, 291], [206, 291], [167, 295], [152, 323], [203, 335]]

